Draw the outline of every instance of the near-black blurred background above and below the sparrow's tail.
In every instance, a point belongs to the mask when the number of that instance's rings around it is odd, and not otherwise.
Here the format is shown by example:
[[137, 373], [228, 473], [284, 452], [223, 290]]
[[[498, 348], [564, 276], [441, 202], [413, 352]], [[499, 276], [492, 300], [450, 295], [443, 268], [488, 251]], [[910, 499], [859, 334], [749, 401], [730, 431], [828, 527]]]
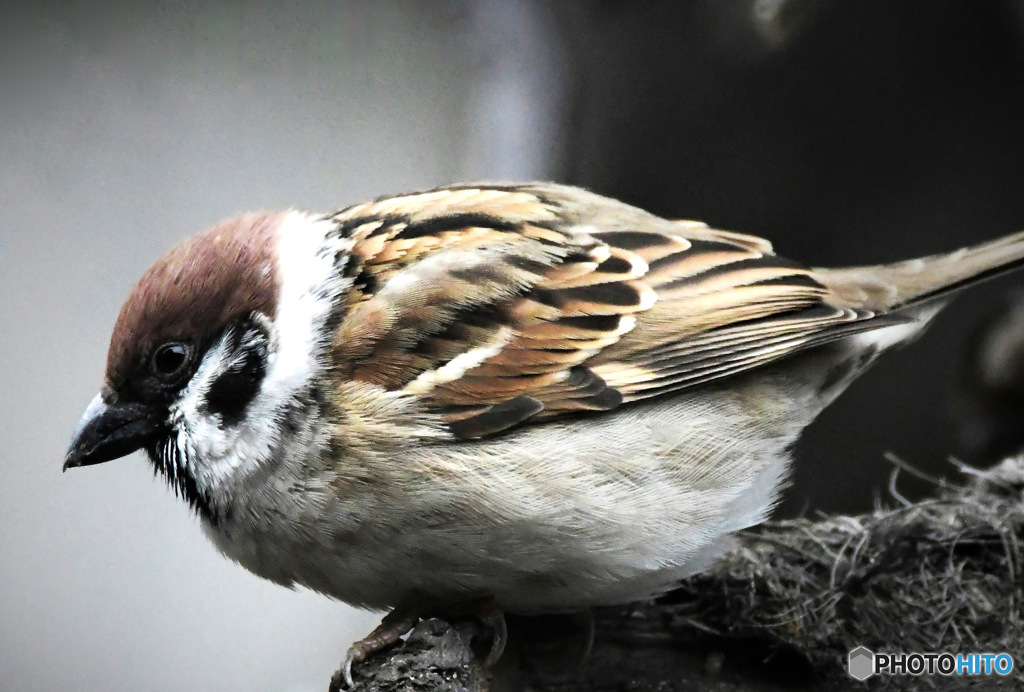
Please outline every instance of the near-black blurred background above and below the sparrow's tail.
[[[563, 12], [577, 75], [566, 179], [820, 266], [1024, 227], [1021, 3], [790, 3], [805, 13], [776, 43], [743, 21], [749, 4]], [[783, 512], [869, 507], [893, 470], [885, 451], [949, 475], [966, 340], [1020, 284], [965, 294], [827, 409], [797, 449]], [[899, 486], [928, 489], [905, 474]]]

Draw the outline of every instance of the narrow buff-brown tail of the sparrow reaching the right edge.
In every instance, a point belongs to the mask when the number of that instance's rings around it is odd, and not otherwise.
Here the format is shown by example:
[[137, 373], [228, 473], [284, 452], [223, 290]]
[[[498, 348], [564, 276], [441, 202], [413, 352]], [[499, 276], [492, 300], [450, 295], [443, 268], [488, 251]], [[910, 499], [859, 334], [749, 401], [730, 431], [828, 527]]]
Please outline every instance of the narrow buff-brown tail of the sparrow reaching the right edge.
[[818, 271], [836, 297], [851, 307], [912, 313], [915, 307], [941, 305], [940, 299], [1022, 264], [1024, 231], [943, 255]]

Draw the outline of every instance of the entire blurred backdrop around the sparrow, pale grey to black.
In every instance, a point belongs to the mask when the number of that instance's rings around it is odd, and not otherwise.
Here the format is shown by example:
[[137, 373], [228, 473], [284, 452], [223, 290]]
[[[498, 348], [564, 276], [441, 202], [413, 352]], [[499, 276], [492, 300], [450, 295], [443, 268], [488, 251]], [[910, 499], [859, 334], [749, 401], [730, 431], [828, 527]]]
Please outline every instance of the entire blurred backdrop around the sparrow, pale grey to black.
[[[0, 10], [0, 689], [321, 690], [373, 624], [221, 558], [140, 457], [60, 475], [120, 303], [176, 242], [551, 178], [817, 264], [950, 250], [1024, 228], [1022, 36], [1016, 0]], [[946, 472], [950, 383], [1019, 284], [826, 412], [783, 511], [863, 509], [887, 450]]]

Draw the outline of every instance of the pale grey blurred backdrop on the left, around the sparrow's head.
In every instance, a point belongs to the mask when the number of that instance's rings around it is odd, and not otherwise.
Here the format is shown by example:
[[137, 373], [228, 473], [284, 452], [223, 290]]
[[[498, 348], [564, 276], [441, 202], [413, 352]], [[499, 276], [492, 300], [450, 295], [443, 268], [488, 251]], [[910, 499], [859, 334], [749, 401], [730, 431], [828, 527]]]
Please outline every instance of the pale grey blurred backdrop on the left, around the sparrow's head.
[[498, 1], [3, 11], [0, 690], [319, 692], [374, 616], [223, 559], [140, 455], [61, 476], [68, 436], [196, 230], [547, 175], [549, 30]]

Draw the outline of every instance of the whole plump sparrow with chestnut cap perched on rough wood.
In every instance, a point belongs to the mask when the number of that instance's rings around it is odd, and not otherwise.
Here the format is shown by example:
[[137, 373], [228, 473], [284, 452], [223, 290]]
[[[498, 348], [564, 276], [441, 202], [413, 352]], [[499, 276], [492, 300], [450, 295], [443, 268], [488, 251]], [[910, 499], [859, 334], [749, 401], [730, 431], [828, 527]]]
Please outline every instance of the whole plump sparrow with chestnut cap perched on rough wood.
[[[121, 309], [65, 468], [144, 449], [253, 573], [419, 616], [656, 596], [763, 521], [801, 431], [1024, 233], [812, 268], [553, 183], [249, 213]], [[468, 605], [469, 604], [469, 605]], [[334, 686], [340, 685], [338, 676]]]

